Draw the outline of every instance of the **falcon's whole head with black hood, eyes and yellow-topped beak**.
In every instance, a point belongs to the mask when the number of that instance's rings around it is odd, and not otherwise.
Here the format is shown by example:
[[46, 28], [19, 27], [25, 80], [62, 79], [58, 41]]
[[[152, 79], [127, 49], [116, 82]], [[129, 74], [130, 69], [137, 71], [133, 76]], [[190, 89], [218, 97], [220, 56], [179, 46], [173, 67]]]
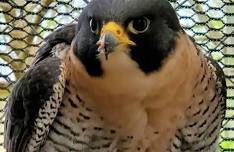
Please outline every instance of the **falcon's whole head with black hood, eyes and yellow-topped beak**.
[[[101, 76], [100, 57], [123, 51], [148, 74], [173, 52], [182, 31], [167, 0], [93, 0], [79, 17], [74, 52], [91, 76]], [[111, 59], [110, 59], [111, 60]]]

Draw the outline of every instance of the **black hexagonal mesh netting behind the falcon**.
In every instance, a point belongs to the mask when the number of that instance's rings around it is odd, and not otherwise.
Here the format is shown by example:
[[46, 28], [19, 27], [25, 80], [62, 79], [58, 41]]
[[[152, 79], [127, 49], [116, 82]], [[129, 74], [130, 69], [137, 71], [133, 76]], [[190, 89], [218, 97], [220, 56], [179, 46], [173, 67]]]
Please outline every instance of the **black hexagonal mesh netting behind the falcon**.
[[[35, 51], [54, 29], [75, 22], [87, 0], [9, 0], [0, 2], [0, 109]], [[226, 74], [227, 114], [220, 151], [234, 152], [234, 1], [172, 1], [182, 26]], [[2, 113], [2, 110], [0, 111]], [[0, 151], [3, 150], [3, 122]]]

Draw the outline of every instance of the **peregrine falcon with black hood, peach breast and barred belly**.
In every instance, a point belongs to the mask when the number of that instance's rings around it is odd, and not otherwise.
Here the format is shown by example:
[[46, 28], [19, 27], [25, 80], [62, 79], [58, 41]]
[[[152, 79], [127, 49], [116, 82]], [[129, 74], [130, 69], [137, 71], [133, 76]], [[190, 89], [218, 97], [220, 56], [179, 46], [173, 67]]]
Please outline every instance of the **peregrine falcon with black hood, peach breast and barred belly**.
[[7, 152], [214, 152], [225, 75], [167, 0], [92, 0], [5, 108]]

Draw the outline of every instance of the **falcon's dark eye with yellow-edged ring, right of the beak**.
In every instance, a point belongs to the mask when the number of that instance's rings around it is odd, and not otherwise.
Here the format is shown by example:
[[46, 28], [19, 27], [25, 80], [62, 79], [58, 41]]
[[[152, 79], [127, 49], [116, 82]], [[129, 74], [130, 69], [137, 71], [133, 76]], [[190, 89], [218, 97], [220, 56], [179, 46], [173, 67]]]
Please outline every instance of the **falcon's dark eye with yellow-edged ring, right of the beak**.
[[135, 18], [128, 24], [128, 30], [134, 34], [144, 33], [148, 30], [150, 20], [146, 17]]

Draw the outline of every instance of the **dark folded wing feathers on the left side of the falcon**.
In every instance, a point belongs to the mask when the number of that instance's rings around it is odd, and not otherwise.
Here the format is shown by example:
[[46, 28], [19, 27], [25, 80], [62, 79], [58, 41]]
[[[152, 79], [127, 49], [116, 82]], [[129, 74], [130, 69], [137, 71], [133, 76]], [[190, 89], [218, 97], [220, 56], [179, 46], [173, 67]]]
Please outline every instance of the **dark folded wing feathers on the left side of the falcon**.
[[32, 66], [20, 79], [9, 97], [5, 117], [5, 148], [22, 152], [31, 135], [39, 109], [54, 93], [59, 81], [61, 61], [46, 58]]

